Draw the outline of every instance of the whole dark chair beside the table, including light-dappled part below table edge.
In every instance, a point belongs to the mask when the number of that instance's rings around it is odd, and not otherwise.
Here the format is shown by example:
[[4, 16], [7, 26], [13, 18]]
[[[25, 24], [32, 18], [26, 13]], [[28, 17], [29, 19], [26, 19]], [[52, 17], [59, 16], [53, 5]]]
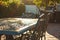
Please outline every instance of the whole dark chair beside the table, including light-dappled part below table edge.
[[18, 39], [21, 38], [21, 40], [46, 40], [45, 35], [46, 35], [46, 30], [48, 26], [49, 15], [50, 15], [48, 14], [42, 13], [39, 16], [35, 27], [23, 33], [22, 36], [19, 37]]

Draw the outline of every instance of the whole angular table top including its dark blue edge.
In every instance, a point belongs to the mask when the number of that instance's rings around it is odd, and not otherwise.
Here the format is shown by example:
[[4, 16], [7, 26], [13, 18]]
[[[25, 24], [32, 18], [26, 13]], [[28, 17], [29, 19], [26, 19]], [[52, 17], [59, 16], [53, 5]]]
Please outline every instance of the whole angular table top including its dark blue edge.
[[31, 18], [1, 18], [0, 34], [18, 35], [34, 27], [38, 19]]

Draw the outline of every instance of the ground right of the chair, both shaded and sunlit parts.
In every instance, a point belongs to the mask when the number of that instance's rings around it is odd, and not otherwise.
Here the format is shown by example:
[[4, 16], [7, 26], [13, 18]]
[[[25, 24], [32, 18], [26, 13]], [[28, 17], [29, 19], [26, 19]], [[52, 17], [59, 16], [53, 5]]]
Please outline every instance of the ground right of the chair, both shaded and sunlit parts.
[[49, 23], [46, 32], [46, 40], [60, 40], [59, 23]]

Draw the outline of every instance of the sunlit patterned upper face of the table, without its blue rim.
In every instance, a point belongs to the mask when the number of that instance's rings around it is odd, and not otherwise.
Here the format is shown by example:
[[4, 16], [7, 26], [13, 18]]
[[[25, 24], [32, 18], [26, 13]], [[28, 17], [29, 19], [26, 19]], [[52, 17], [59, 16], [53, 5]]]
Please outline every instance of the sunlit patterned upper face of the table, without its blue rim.
[[21, 31], [37, 23], [38, 19], [25, 18], [2, 18], [0, 19], [0, 30]]

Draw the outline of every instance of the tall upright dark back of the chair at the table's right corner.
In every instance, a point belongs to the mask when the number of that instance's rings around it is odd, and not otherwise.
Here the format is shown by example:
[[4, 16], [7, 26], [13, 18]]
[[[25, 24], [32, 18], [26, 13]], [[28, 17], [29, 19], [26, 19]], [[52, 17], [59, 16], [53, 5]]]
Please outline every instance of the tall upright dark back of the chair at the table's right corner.
[[46, 40], [45, 35], [46, 35], [50, 13], [48, 14], [45, 13], [40, 15], [40, 17], [38, 18], [31, 40]]

